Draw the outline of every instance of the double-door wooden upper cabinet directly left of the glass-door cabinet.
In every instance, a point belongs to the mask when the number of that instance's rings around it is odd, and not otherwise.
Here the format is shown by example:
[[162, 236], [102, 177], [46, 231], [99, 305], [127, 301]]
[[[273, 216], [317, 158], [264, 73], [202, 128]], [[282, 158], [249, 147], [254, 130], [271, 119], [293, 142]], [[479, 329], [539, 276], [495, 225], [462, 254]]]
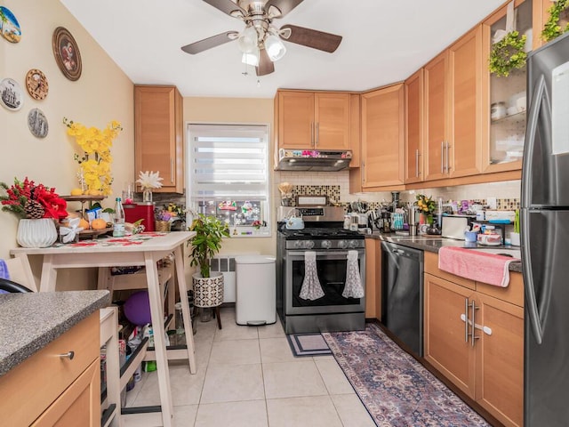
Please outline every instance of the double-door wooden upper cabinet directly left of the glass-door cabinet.
[[482, 172], [482, 30], [431, 60], [425, 73], [425, 181]]

